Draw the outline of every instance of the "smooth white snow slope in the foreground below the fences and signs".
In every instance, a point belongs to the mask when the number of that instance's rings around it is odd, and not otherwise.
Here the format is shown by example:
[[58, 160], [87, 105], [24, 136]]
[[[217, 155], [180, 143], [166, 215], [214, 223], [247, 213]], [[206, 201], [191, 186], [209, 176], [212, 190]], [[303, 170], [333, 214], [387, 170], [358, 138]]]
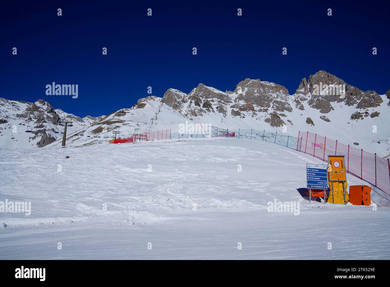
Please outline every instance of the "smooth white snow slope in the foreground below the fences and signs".
[[2, 197], [31, 214], [0, 213], [0, 258], [390, 259], [390, 208], [310, 203], [307, 163], [230, 138], [2, 150]]

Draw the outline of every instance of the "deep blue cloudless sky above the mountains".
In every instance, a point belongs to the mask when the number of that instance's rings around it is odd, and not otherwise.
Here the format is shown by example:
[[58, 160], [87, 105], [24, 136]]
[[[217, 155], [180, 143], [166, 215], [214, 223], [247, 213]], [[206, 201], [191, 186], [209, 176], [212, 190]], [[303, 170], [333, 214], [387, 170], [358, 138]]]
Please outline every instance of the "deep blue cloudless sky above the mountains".
[[[0, 97], [44, 99], [81, 117], [131, 107], [148, 86], [162, 97], [260, 78], [293, 94], [301, 78], [325, 70], [362, 90], [390, 88], [389, 1], [8, 2], [0, 4]], [[78, 84], [78, 99], [46, 96], [53, 81]]]

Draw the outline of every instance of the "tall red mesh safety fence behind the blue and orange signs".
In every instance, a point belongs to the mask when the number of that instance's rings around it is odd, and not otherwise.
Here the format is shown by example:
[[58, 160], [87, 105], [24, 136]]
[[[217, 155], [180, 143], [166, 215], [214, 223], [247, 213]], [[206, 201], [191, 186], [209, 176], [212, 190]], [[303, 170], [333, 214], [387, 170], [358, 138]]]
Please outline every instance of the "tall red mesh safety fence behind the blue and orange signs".
[[[328, 155], [343, 155], [346, 157], [348, 174], [374, 185], [386, 195], [390, 196], [389, 159], [386, 160], [379, 157], [376, 153], [372, 154], [363, 151], [363, 149], [355, 149], [337, 140], [331, 140], [326, 138], [326, 136], [313, 134], [309, 131], [299, 132], [296, 150], [310, 154], [325, 162], [328, 162]], [[375, 189], [373, 190], [375, 191]], [[382, 195], [380, 196], [383, 197]], [[387, 196], [385, 199], [389, 200]]]

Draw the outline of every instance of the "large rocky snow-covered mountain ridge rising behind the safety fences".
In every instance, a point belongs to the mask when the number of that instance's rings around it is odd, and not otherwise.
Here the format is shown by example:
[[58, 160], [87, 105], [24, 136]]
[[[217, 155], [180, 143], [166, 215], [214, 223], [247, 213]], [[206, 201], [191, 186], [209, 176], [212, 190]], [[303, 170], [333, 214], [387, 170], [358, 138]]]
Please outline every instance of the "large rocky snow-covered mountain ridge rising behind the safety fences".
[[[329, 92], [338, 85], [345, 87], [342, 96]], [[67, 144], [107, 142], [103, 135], [112, 136], [113, 129], [119, 129], [124, 136], [163, 129], [178, 133], [179, 124], [188, 121], [223, 129], [265, 129], [296, 137], [299, 131], [310, 131], [385, 156], [390, 150], [390, 127], [386, 119], [389, 100], [390, 89], [384, 95], [373, 90], [362, 91], [325, 71], [310, 75], [308, 80], [303, 78], [292, 95], [284, 86], [260, 79], [245, 79], [234, 91], [225, 92], [199, 84], [188, 94], [168, 89], [163, 97], [139, 99], [132, 108], [123, 108], [104, 118], [78, 118], [85, 124], [82, 126], [80, 122], [85, 134], [76, 136], [70, 129]], [[87, 137], [87, 133], [91, 136]], [[52, 145], [57, 144], [60, 141]], [[2, 141], [1, 146], [7, 145]]]

